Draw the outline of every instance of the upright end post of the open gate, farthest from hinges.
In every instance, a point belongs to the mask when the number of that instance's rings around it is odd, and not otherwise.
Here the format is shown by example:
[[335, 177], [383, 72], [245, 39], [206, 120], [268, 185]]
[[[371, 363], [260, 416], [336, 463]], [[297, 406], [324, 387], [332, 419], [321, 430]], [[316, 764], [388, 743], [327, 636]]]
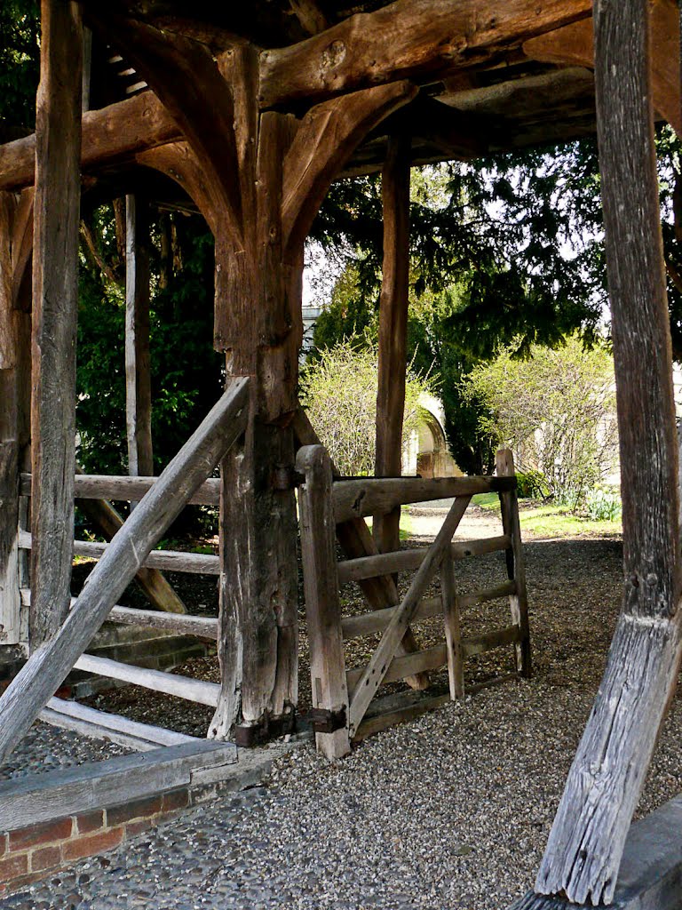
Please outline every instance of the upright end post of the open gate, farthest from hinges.
[[[514, 455], [509, 449], [496, 452], [495, 464], [497, 477], [514, 477]], [[517, 490], [506, 490], [499, 494], [500, 511], [502, 512], [502, 529], [511, 540], [506, 551], [506, 572], [510, 581], [515, 581], [517, 591], [509, 595], [509, 608], [514, 625], [521, 631], [521, 640], [514, 645], [517, 672], [531, 675], [530, 627], [528, 625], [528, 597], [526, 592], [526, 561], [524, 560], [521, 528], [518, 523]]]

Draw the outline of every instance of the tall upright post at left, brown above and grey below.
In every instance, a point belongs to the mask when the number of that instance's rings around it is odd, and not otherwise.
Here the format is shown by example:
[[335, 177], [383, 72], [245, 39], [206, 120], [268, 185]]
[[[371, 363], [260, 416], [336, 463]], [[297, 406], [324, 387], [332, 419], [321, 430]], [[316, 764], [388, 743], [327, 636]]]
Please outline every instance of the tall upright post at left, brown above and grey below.
[[70, 597], [82, 56], [79, 5], [43, 0], [35, 125], [32, 648], [54, 634]]

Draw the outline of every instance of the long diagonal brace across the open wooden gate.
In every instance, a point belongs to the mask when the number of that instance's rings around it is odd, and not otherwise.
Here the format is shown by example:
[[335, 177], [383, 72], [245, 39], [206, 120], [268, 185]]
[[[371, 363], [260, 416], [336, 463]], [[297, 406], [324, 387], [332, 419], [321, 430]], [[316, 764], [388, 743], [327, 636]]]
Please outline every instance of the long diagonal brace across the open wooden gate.
[[429, 547], [426, 559], [416, 571], [405, 598], [391, 617], [381, 642], [379, 642], [372, 659], [367, 664], [362, 678], [357, 683], [356, 693], [350, 705], [349, 733], [351, 737], [356, 732], [366, 712], [367, 705], [371, 702], [379, 685], [381, 685], [389, 663], [396, 654], [396, 647], [400, 643], [407, 626], [412, 621], [422, 593], [426, 585], [431, 581], [443, 557], [443, 552], [446, 547], [449, 547], [452, 536], [466, 512], [466, 507], [470, 500], [470, 496], [462, 496], [453, 502], [452, 508], [447, 513], [446, 520], [443, 522], [440, 531], [438, 531], [436, 540]]

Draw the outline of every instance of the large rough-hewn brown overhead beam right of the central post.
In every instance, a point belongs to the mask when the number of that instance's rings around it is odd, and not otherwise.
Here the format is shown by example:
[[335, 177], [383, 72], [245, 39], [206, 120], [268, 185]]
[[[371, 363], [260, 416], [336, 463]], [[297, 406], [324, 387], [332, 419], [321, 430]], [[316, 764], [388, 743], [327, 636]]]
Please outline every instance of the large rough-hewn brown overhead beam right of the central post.
[[397, 0], [305, 42], [263, 51], [260, 105], [310, 104], [405, 76], [433, 81], [591, 12], [591, 0], [507, 0], [492, 17], [486, 0]]

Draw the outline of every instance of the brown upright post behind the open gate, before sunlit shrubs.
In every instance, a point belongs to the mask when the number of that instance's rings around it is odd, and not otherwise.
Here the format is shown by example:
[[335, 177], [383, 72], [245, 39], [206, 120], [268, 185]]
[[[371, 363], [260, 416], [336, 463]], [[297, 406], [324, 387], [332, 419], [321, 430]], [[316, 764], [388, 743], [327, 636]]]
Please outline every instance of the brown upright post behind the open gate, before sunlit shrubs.
[[[377, 477], [399, 477], [407, 363], [410, 138], [391, 136], [382, 171], [384, 265], [379, 298], [379, 386], [376, 393]], [[374, 518], [381, 552], [400, 549], [400, 508]]]

